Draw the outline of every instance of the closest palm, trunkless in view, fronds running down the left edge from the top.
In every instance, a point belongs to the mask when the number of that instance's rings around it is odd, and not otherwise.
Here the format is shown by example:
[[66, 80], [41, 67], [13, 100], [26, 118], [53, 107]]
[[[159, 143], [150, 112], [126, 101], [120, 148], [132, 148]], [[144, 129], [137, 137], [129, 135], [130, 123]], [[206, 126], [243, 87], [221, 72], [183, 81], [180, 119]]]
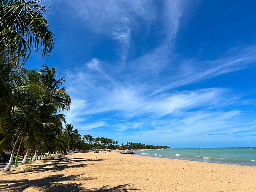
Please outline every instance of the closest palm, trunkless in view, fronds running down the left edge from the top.
[[13, 69], [23, 66], [30, 56], [30, 47], [36, 52], [42, 50], [43, 57], [54, 48], [54, 35], [43, 17], [47, 7], [37, 2], [0, 0], [0, 116], [5, 119], [14, 106], [10, 79]]

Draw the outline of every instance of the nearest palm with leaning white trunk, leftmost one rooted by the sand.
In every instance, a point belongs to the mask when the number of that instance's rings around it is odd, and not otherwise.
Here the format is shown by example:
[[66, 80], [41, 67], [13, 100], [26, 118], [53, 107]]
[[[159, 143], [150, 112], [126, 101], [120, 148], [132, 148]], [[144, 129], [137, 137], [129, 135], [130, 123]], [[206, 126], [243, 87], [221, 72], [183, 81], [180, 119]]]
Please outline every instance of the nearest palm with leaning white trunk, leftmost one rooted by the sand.
[[[36, 95], [34, 91], [31, 92], [31, 87], [32, 89], [35, 87], [38, 88], [37, 90], [39, 91], [36, 93]], [[4, 171], [10, 171], [14, 152], [20, 140], [23, 138], [23, 142], [25, 144], [31, 144], [30, 138], [33, 138], [31, 134], [33, 134], [35, 130], [30, 130], [33, 114], [31, 105], [29, 105], [29, 103], [31, 104], [36, 100], [40, 100], [40, 98], [44, 97], [45, 94], [43, 87], [36, 84], [18, 86], [13, 89], [12, 92], [15, 99], [15, 106], [11, 111], [8, 119], [4, 120], [3, 116], [0, 117], [0, 131], [5, 135], [4, 139], [0, 142], [0, 145], [2, 148], [4, 148], [5, 143], [8, 143], [10, 140], [12, 140], [15, 135], [17, 136], [17, 140], [14, 143], [9, 163], [7, 164]], [[22, 97], [24, 93], [26, 97]], [[39, 127], [36, 127], [36, 129], [38, 128]]]

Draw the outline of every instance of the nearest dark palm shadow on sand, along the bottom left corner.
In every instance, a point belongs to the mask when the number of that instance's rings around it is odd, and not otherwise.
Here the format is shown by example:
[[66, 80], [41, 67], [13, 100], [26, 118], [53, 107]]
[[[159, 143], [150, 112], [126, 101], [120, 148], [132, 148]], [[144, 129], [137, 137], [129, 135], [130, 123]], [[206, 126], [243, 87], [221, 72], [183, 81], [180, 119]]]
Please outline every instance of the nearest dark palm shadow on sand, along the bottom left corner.
[[[49, 177], [45, 177], [42, 179], [36, 180], [0, 180], [0, 184], [4, 184], [0, 186], [0, 191], [23, 191], [29, 187], [38, 188], [41, 191], [51, 191], [51, 192], [78, 192], [84, 191], [84, 188], [81, 187], [81, 184], [74, 183], [72, 181], [79, 180], [94, 180], [97, 178], [91, 177], [81, 177], [81, 175], [70, 175], [65, 176], [63, 174], [52, 175]], [[64, 181], [68, 181], [68, 183], [63, 183]], [[71, 182], [70, 182], [71, 181]], [[8, 185], [7, 185], [8, 184]]]

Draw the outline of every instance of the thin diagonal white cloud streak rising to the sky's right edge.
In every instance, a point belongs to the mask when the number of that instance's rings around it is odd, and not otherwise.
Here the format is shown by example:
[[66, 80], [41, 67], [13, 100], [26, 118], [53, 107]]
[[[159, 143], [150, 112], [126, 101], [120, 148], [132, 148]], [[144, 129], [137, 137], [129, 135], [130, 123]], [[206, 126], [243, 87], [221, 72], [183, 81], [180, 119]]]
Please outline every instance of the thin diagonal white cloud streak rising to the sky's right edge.
[[204, 79], [219, 76], [221, 74], [250, 67], [256, 61], [256, 56], [254, 54], [255, 51], [256, 46], [252, 45], [242, 48], [242, 50], [235, 49], [228, 51], [220, 59], [216, 60], [185, 60], [181, 62], [181, 64], [184, 63], [185, 66], [189, 67], [181, 68], [181, 70], [178, 71], [178, 74], [174, 73], [174, 78], [170, 78], [172, 83], [154, 91], [152, 95], [168, 89], [174, 89], [187, 84], [199, 82]]

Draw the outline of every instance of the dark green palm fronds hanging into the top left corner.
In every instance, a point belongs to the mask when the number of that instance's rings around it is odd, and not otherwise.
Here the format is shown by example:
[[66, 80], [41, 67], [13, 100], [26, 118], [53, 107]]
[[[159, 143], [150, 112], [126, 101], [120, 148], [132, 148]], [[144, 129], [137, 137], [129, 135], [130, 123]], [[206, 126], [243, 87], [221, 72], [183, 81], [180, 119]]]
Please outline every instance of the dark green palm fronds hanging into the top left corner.
[[[49, 30], [43, 12], [48, 7], [38, 5], [39, 1], [1, 1], [0, 36], [5, 44], [0, 54], [11, 49], [16, 58], [22, 57], [24, 63], [30, 55], [30, 45], [42, 56], [49, 56], [54, 48], [54, 35]], [[27, 52], [28, 51], [28, 52]]]

